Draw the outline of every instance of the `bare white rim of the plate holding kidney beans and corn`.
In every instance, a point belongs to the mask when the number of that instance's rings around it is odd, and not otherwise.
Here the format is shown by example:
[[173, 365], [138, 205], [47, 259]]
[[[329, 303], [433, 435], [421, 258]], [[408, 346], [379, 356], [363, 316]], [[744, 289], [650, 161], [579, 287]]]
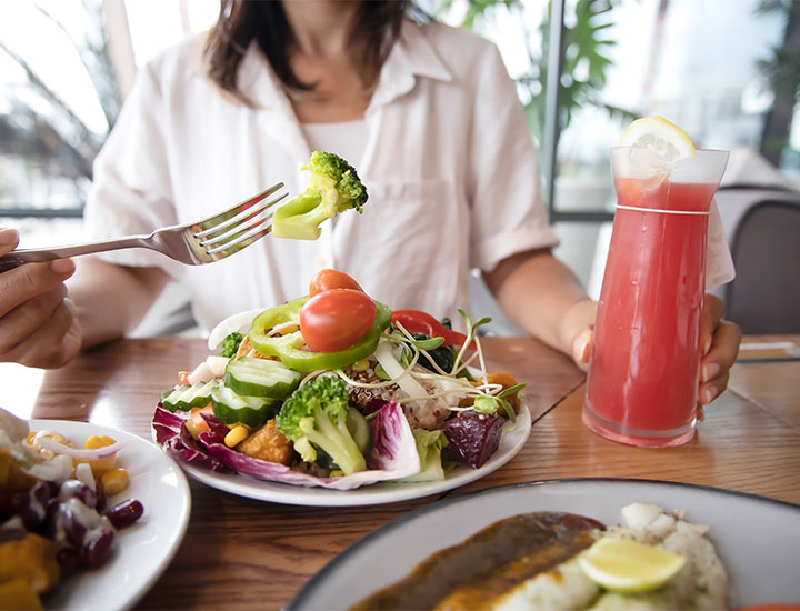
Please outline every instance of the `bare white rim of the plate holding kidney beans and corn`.
[[46, 605], [70, 611], [130, 609], [161, 575], [183, 540], [191, 510], [183, 472], [160, 448], [124, 431], [67, 420], [31, 420], [30, 428], [58, 431], [74, 445], [93, 434], [124, 443], [119, 464], [128, 471], [130, 485], [110, 498], [109, 507], [134, 498], [144, 505], [144, 513], [136, 524], [118, 531], [113, 554], [103, 567], [70, 577]]

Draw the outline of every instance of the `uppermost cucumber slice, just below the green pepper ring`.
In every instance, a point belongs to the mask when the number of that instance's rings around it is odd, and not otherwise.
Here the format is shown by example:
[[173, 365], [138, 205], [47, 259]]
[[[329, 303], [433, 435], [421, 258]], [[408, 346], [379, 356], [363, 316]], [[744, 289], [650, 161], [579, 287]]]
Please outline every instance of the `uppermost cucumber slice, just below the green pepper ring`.
[[242, 397], [283, 400], [300, 384], [301, 373], [280, 361], [243, 357], [226, 368], [224, 383]]

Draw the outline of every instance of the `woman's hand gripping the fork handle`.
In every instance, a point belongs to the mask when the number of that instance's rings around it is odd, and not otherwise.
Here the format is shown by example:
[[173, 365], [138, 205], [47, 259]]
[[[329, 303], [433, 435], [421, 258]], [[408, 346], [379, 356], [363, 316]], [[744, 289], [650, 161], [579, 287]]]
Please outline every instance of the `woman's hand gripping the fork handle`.
[[[16, 230], [0, 228], [0, 254], [18, 243]], [[81, 331], [64, 286], [73, 272], [70, 259], [57, 259], [0, 273], [0, 361], [52, 369], [78, 353]]]

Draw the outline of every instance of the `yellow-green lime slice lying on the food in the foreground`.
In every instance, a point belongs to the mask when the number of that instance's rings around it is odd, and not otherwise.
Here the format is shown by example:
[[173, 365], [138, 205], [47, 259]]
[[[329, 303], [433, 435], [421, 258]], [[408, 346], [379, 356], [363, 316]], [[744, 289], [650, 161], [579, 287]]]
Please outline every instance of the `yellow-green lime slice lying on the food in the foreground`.
[[589, 579], [611, 592], [632, 593], [656, 590], [672, 579], [686, 563], [674, 552], [606, 537], [578, 557]]

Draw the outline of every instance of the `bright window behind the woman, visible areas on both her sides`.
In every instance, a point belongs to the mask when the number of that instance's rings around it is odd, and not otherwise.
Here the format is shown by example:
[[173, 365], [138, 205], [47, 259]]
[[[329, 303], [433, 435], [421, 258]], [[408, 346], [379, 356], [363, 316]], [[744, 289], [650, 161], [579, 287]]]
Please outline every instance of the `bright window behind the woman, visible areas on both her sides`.
[[[759, 151], [800, 183], [796, 0], [420, 6], [498, 43], [541, 151], [560, 254], [584, 282], [613, 211], [608, 149], [636, 116], [663, 114], [706, 147]], [[137, 66], [218, 10], [218, 0], [0, 3], [0, 222], [79, 219], [91, 161]], [[558, 91], [547, 78], [557, 69]]]

